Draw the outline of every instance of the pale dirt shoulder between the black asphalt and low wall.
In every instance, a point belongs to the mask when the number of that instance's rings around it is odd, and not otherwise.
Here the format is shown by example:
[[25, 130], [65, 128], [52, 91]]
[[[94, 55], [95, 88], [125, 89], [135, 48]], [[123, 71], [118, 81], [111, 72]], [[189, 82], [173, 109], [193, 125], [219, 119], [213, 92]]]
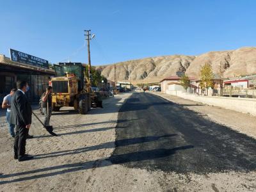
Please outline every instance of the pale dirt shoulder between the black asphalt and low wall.
[[201, 113], [205, 118], [210, 118], [212, 121], [218, 124], [226, 125], [235, 131], [241, 132], [253, 138], [256, 138], [256, 118], [255, 116], [239, 113], [229, 109], [223, 109], [220, 107], [209, 106], [202, 104], [201, 102], [195, 102], [193, 100], [182, 99], [173, 95], [168, 95], [161, 92], [150, 92], [164, 99], [170, 100], [177, 104], [184, 106], [190, 110]]

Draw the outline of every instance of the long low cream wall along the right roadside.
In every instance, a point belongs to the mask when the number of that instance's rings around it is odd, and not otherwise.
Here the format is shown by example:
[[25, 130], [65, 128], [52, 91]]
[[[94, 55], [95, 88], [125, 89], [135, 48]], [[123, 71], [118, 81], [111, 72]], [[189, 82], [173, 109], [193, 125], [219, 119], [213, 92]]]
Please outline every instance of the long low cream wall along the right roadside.
[[231, 109], [241, 113], [250, 113], [256, 116], [256, 99], [234, 98], [234, 97], [210, 97], [182, 93], [179, 91], [166, 91], [167, 94], [182, 97], [184, 99], [195, 100], [211, 106], [218, 106], [225, 109]]

